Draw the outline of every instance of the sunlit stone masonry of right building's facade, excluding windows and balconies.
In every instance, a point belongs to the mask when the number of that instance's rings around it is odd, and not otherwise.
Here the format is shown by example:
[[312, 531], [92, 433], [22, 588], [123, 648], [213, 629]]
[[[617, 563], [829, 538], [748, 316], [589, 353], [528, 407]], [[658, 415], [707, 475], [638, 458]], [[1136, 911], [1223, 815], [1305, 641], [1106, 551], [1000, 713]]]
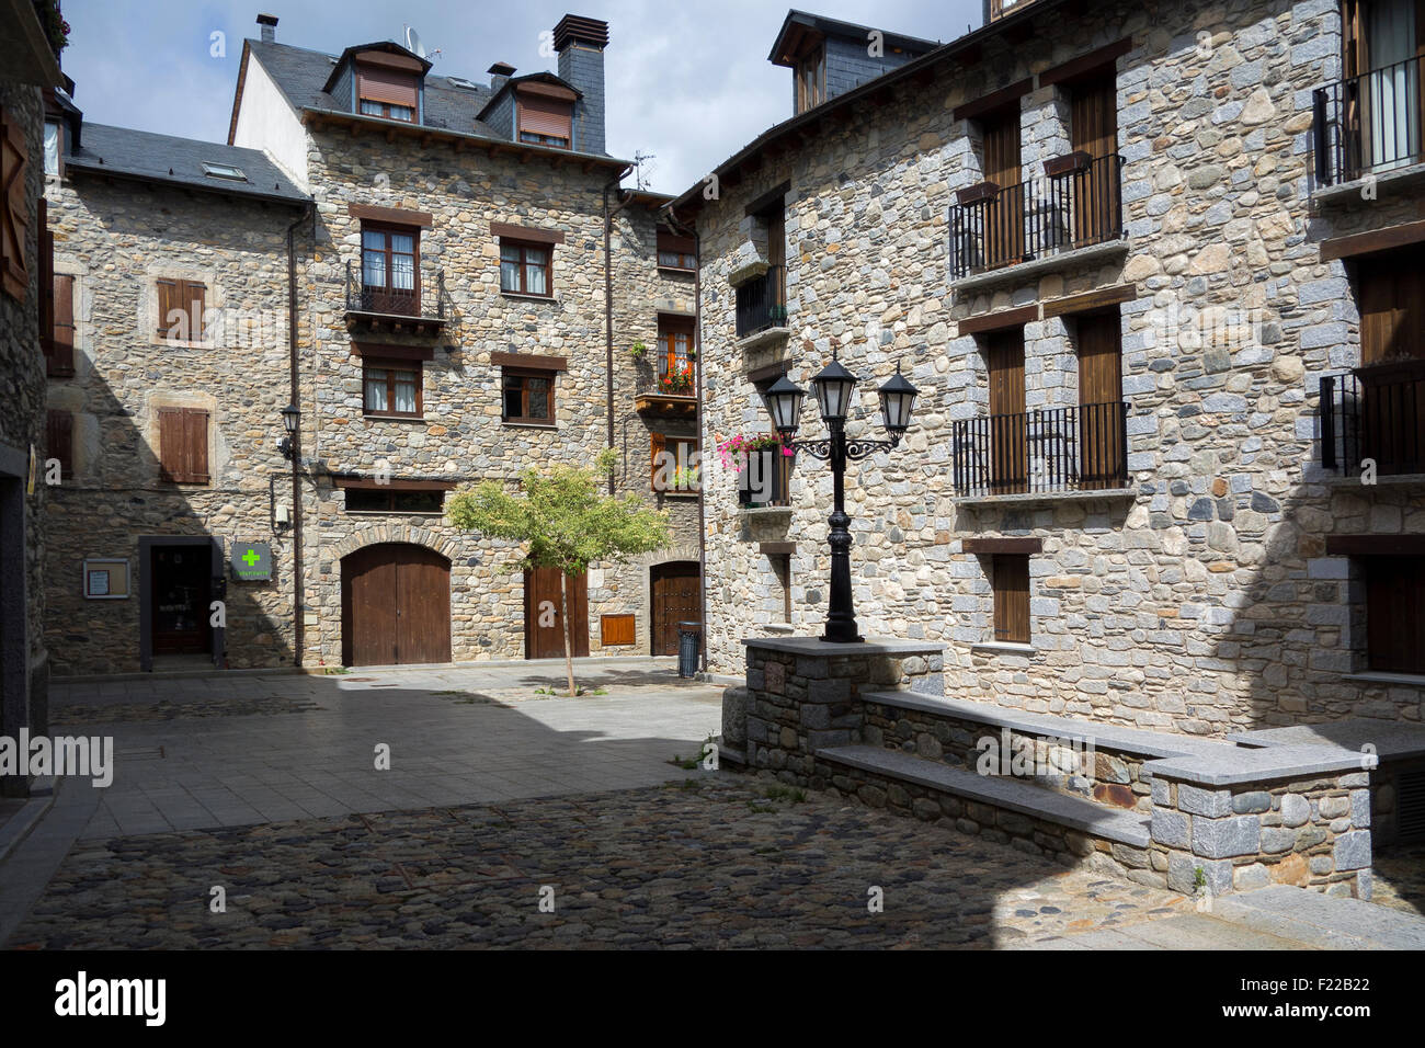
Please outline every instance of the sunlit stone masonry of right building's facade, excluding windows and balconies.
[[[1126, 242], [955, 281], [948, 214], [980, 178], [956, 106], [1129, 37], [1117, 58]], [[921, 388], [908, 439], [852, 463], [854, 592], [876, 635], [948, 644], [948, 689], [1026, 710], [1193, 734], [1348, 716], [1419, 720], [1421, 689], [1357, 680], [1362, 600], [1331, 533], [1425, 528], [1418, 486], [1332, 482], [1317, 465], [1317, 384], [1359, 359], [1357, 305], [1328, 237], [1418, 217], [1409, 191], [1312, 200], [1312, 88], [1341, 74], [1331, 0], [1117, 3], [1054, 14], [1054, 31], [986, 40], [826, 121], [697, 215], [703, 237], [705, 433], [765, 431], [747, 372], [787, 361], [807, 381], [838, 349], [862, 378], [851, 436], [879, 436], [874, 389], [901, 364]], [[1067, 143], [1066, 93], [1020, 100], [1023, 177]], [[787, 197], [791, 335], [740, 345], [730, 277], [745, 271], [744, 208]], [[970, 317], [1131, 285], [1119, 307], [1129, 490], [960, 498], [953, 423], [988, 413]], [[1077, 402], [1074, 321], [1025, 325], [1026, 404]], [[1204, 334], [1206, 332], [1206, 334]], [[808, 398], [802, 438], [822, 423]], [[710, 652], [735, 673], [761, 632], [760, 542], [795, 542], [797, 625], [824, 617], [831, 476], [799, 463], [792, 512], [740, 510], [735, 476], [705, 485]], [[993, 643], [986, 560], [962, 540], [1033, 536], [1032, 650]]]

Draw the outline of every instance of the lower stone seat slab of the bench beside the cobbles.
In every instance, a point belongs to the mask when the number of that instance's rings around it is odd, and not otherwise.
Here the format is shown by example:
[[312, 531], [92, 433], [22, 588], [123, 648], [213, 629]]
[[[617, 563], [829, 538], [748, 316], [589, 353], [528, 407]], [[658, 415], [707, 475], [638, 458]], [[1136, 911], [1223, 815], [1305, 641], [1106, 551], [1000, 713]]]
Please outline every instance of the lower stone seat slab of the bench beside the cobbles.
[[1147, 816], [1054, 793], [1022, 779], [982, 776], [876, 746], [832, 746], [817, 750], [817, 759], [1054, 823], [1099, 840], [1134, 848], [1149, 847]]

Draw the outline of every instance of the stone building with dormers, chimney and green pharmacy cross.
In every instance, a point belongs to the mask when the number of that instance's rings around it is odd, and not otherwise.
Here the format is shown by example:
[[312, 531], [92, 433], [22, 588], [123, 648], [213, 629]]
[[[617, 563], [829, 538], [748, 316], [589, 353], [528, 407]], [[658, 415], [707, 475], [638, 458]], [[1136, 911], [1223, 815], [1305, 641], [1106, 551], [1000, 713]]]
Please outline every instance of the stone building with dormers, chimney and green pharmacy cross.
[[227, 145], [57, 117], [57, 662], [560, 654], [557, 577], [445, 499], [606, 446], [674, 545], [576, 580], [579, 653], [670, 652], [701, 617], [695, 258], [604, 151], [608, 27], [567, 16], [557, 74], [476, 84], [258, 21]]

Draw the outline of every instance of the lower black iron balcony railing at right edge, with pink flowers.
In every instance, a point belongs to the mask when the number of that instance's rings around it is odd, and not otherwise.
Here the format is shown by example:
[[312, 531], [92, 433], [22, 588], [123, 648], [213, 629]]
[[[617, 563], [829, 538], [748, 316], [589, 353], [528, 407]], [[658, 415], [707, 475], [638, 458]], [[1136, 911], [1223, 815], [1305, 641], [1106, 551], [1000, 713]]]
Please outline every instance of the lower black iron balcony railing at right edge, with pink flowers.
[[1345, 475], [1425, 473], [1425, 365], [1377, 365], [1321, 379], [1321, 465]]

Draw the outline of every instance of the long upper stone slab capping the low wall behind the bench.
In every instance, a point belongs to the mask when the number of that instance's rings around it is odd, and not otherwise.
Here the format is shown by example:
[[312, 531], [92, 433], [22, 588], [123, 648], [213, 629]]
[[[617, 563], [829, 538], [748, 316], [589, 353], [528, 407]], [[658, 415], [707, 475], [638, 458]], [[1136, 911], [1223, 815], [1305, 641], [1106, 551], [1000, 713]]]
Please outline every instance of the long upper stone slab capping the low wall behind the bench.
[[1096, 720], [1063, 717], [1054, 713], [1032, 713], [996, 703], [978, 703], [968, 699], [942, 699], [915, 692], [862, 692], [862, 702], [895, 706], [922, 713], [939, 713], [956, 720], [976, 724], [1007, 727], [1023, 734], [1053, 739], [1092, 740], [1094, 749], [1116, 750], [1136, 757], [1187, 757], [1194, 754], [1221, 754], [1240, 750], [1235, 743], [1218, 739], [1197, 739], [1174, 731], [1151, 731], [1140, 727], [1120, 727]]

